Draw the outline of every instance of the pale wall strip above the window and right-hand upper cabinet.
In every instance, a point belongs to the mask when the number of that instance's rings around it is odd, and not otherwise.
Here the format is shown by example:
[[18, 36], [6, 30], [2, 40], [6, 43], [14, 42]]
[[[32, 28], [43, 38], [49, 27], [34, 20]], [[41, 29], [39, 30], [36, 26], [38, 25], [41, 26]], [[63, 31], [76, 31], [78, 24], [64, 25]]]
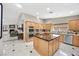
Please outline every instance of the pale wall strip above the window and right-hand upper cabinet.
[[45, 19], [43, 20], [44, 23], [68, 23], [69, 20], [79, 19], [79, 15], [77, 16], [69, 16], [69, 17], [62, 17], [62, 18], [52, 18], [52, 19]]

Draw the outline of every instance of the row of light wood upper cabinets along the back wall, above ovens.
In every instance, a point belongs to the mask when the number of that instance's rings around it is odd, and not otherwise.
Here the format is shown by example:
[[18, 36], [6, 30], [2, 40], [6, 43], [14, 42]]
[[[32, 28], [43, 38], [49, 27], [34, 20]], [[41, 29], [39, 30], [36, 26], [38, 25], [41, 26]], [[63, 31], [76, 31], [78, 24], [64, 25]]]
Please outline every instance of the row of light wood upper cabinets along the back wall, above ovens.
[[51, 30], [53, 24], [44, 24], [44, 23], [35, 23], [32, 21], [25, 21], [25, 27], [29, 28], [29, 26], [33, 26], [34, 29], [45, 29], [45, 30]]

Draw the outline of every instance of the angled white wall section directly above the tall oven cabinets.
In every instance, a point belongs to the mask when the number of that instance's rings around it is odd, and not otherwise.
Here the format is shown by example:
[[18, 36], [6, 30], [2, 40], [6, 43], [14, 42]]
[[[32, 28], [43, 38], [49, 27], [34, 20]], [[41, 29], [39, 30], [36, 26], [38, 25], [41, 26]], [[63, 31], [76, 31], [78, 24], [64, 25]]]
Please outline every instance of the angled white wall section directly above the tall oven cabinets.
[[34, 17], [32, 15], [21, 13], [19, 16], [18, 24], [23, 24], [24, 21], [33, 21], [36, 23], [42, 23], [42, 20], [37, 19], [36, 17]]

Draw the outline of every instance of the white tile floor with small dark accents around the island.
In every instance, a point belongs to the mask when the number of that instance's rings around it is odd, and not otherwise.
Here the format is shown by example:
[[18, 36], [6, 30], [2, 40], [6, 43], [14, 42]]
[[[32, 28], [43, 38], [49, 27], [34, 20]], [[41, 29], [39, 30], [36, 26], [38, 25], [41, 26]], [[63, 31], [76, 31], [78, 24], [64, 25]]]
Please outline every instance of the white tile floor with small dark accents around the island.
[[[74, 48], [74, 49], [72, 49]], [[32, 53], [30, 53], [32, 51]], [[54, 56], [79, 56], [79, 48], [67, 44], [60, 44], [59, 50]], [[1, 56], [40, 56], [33, 49], [33, 42], [25, 43], [22, 40], [17, 40], [17, 37], [11, 38], [9, 35], [4, 35], [0, 40], [0, 55]]]

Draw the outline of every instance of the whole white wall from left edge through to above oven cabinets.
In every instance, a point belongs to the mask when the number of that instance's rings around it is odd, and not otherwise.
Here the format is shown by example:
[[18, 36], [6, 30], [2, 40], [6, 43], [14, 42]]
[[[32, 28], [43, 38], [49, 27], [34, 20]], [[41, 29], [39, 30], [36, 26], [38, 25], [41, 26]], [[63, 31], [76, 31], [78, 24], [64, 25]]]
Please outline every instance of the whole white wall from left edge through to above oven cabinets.
[[3, 4], [3, 25], [23, 23], [27, 19], [29, 21], [42, 22], [42, 20], [37, 20], [36, 17], [25, 14], [26, 12], [23, 13], [20, 9], [10, 5]]

